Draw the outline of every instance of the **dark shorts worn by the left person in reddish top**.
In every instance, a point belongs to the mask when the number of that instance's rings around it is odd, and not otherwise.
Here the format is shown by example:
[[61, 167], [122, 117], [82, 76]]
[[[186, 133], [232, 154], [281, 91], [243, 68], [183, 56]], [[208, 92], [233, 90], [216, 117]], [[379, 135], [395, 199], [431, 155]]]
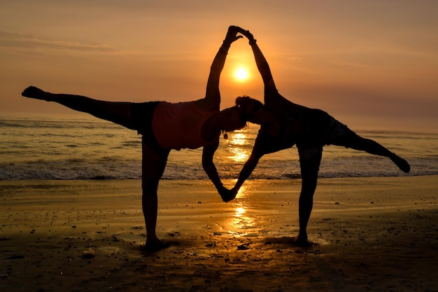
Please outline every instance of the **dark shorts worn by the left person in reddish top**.
[[134, 121], [133, 130], [137, 130], [143, 137], [141, 141], [158, 155], [168, 155], [170, 149], [165, 149], [158, 144], [152, 129], [152, 119], [154, 111], [160, 102], [141, 102], [131, 104], [132, 120]]

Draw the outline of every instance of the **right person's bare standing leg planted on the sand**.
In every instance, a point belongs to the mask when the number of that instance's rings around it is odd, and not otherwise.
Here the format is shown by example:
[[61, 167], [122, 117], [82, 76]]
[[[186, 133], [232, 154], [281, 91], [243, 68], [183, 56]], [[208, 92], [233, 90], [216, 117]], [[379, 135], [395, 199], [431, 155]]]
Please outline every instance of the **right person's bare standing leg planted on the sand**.
[[297, 244], [307, 245], [307, 223], [313, 207], [313, 194], [318, 181], [318, 171], [323, 157], [323, 148], [298, 148], [299, 166], [301, 167], [302, 188], [299, 194], [299, 234]]

